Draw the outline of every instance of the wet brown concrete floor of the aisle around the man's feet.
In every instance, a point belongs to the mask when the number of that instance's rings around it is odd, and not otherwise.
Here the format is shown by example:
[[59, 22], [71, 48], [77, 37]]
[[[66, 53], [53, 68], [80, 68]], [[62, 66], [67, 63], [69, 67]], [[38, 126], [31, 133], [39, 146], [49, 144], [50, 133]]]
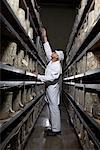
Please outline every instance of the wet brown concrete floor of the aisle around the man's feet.
[[70, 125], [64, 105], [61, 105], [61, 135], [50, 137], [44, 135], [48, 113], [45, 106], [33, 130], [25, 150], [81, 150], [77, 136]]

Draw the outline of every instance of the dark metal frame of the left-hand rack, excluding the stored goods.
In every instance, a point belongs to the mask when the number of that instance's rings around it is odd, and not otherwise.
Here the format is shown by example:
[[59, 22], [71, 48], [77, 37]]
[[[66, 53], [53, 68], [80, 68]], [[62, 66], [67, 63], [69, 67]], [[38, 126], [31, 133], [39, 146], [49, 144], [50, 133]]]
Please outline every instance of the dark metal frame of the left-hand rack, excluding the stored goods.
[[[37, 18], [36, 12], [34, 10], [37, 9], [37, 11], [39, 11], [36, 1], [35, 8], [31, 0], [20, 0], [20, 6], [27, 12], [28, 17], [30, 18], [31, 26], [35, 31], [35, 36], [41, 36], [40, 28], [42, 22]], [[1, 8], [1, 33], [2, 29], [4, 31], [2, 35], [4, 37], [7, 35], [8, 38], [18, 43], [20, 47], [26, 49], [27, 52], [30, 53], [30, 55], [33, 57], [33, 59], [37, 61], [37, 64], [41, 66], [41, 69], [44, 72], [46, 67], [46, 60], [38, 54], [36, 43], [34, 43], [29, 38], [25, 29], [22, 27], [21, 23], [6, 0], [1, 0]], [[41, 51], [43, 52], [43, 49], [41, 49]], [[38, 81], [36, 75], [33, 73], [18, 69], [14, 66], [2, 64], [1, 62], [0, 73], [2, 79], [2, 81], [0, 81], [0, 90], [2, 91], [14, 91], [16, 89], [24, 88], [27, 86], [34, 88], [42, 85], [44, 87], [44, 84]], [[3, 77], [2, 73], [9, 75], [9, 79]], [[13, 144], [13, 146], [15, 146], [16, 149], [24, 148], [25, 143], [27, 142], [27, 139], [34, 128], [36, 120], [45, 105], [43, 100], [44, 95], [45, 91], [42, 89], [42, 92], [38, 93], [36, 97], [33, 97], [30, 102], [28, 102], [22, 109], [14, 113], [12, 117], [7, 120], [3, 120], [3, 122], [0, 121], [0, 149], [4, 150], [7, 148], [7, 146], [9, 147], [9, 144], [12, 144], [11, 140], [14, 140], [15, 137], [17, 137], [17, 143], [15, 143], [15, 145]], [[30, 128], [26, 127], [27, 122], [32, 123]], [[23, 128], [24, 130], [22, 131]], [[28, 130], [27, 134], [26, 130]], [[23, 133], [25, 134], [24, 136], [21, 135]], [[22, 138], [24, 139], [22, 140]]]

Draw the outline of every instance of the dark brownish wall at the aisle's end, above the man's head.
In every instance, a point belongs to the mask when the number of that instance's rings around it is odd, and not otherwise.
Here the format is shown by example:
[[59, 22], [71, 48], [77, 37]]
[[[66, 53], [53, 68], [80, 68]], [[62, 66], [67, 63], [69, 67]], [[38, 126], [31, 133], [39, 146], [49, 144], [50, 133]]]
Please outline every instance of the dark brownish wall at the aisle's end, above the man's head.
[[64, 50], [74, 23], [75, 9], [42, 6], [40, 13], [52, 48]]

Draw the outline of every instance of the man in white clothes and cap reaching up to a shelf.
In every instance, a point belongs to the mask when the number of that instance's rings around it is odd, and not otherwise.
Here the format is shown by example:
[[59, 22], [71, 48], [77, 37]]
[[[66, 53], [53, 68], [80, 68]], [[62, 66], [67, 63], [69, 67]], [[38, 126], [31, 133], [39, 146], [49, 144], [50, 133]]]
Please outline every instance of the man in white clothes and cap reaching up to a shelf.
[[51, 129], [46, 130], [46, 134], [48, 136], [55, 136], [61, 133], [59, 110], [60, 90], [58, 80], [62, 74], [60, 61], [64, 59], [64, 54], [61, 50], [55, 50], [55, 52], [52, 52], [47, 40], [46, 30], [42, 28], [41, 33], [44, 41], [44, 49], [49, 63], [46, 67], [45, 75], [38, 75], [37, 78], [46, 84], [46, 98], [48, 99], [51, 123]]

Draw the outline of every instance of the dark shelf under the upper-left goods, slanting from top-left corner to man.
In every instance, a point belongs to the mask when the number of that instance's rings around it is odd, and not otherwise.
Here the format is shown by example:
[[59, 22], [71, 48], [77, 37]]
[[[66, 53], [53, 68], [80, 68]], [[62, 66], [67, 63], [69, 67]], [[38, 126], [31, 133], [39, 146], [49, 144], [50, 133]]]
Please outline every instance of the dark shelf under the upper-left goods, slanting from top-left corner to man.
[[[29, 47], [29, 49], [31, 49], [31, 53], [32, 53], [32, 55], [34, 54], [34, 58], [39, 59], [41, 61], [42, 65], [45, 66], [45, 63], [42, 61], [42, 58], [40, 58], [40, 56], [38, 56], [38, 50], [37, 50], [35, 44], [27, 35], [26, 31], [22, 27], [21, 23], [19, 22], [18, 18], [16, 17], [16, 15], [14, 14], [13, 10], [8, 5], [6, 0], [2, 0], [1, 5], [3, 8], [2, 9], [2, 14], [3, 14], [2, 18], [4, 17], [5, 20], [7, 18], [6, 22], [8, 22], [12, 26], [13, 30], [15, 30], [15, 32], [20, 36], [20, 38], [23, 40], [25, 45], [27, 45]], [[8, 25], [8, 23], [6, 25]]]

